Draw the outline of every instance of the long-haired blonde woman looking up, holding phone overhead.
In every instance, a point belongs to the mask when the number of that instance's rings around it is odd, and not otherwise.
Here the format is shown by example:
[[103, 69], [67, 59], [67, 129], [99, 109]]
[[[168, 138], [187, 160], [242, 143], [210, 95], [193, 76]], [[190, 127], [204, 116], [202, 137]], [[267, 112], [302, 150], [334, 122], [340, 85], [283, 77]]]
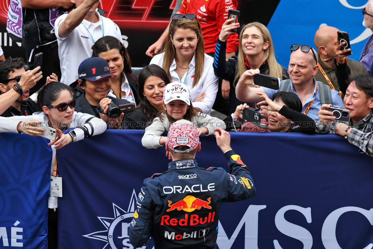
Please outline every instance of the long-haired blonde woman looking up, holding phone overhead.
[[[287, 69], [277, 63], [275, 49], [269, 30], [260, 22], [245, 25], [239, 35], [238, 56], [225, 59], [226, 39], [233, 34], [232, 29], [239, 28], [239, 23], [229, 24], [234, 19], [224, 22], [216, 43], [215, 75], [223, 80], [229, 80], [229, 113], [233, 113], [236, 106], [243, 104], [236, 98], [235, 86], [239, 77], [248, 69], [259, 69], [260, 74], [287, 79]], [[251, 104], [251, 107], [255, 107]], [[264, 111], [261, 114], [265, 115]], [[266, 116], [266, 115], [265, 115]]]

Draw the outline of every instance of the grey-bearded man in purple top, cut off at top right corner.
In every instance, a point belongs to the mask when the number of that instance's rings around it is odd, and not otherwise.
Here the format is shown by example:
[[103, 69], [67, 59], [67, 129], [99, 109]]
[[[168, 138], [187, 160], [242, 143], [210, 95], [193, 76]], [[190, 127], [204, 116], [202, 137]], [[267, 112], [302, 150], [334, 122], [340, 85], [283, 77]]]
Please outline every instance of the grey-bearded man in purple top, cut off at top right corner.
[[[373, 32], [373, 4], [372, 0], [370, 0], [367, 6], [363, 9], [363, 26], [366, 28], [370, 28]], [[372, 62], [373, 62], [373, 34], [368, 38], [366, 44], [361, 51], [359, 61], [364, 64], [365, 68], [367, 69], [369, 75], [373, 75], [372, 69]]]

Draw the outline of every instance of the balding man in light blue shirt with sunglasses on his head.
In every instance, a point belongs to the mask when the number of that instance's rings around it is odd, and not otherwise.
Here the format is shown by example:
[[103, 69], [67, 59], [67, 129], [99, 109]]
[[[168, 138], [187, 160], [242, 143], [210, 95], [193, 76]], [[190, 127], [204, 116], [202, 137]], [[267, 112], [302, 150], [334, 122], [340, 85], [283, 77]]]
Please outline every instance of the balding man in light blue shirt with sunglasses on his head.
[[[302, 102], [303, 114], [312, 118], [315, 122], [319, 120], [317, 112], [323, 102], [336, 108], [343, 108], [343, 101], [338, 92], [331, 90], [328, 85], [316, 81], [313, 77], [319, 70], [315, 50], [308, 45], [292, 44], [289, 61], [290, 80], [279, 80], [279, 90], [260, 87], [260, 82], [254, 82], [253, 76], [259, 74], [259, 69], [250, 69], [238, 80], [236, 85], [236, 97], [244, 102], [258, 103], [263, 99], [257, 93], [266, 93], [272, 99], [277, 91], [291, 91], [298, 95]], [[254, 87], [251, 87], [254, 86]], [[285, 87], [286, 86], [286, 87]]]

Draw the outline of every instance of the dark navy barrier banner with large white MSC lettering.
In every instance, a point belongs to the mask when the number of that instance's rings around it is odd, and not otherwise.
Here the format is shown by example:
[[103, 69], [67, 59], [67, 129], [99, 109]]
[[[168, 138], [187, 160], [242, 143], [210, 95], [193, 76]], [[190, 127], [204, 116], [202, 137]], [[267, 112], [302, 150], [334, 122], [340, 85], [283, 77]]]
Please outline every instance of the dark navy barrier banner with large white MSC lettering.
[[[133, 248], [128, 226], [142, 181], [168, 164], [164, 147], [142, 147], [142, 135], [107, 130], [57, 150], [59, 249]], [[372, 248], [372, 157], [334, 134], [232, 132], [231, 143], [257, 194], [223, 203], [218, 248]], [[228, 171], [214, 136], [201, 145], [198, 166]]]

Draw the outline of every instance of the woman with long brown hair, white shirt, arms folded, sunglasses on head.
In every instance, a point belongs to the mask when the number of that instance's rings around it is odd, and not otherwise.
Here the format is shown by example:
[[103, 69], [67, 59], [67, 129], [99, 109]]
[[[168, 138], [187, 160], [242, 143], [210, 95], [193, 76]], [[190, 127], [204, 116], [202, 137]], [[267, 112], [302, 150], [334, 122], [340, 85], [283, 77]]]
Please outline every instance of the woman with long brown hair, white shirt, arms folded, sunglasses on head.
[[192, 105], [210, 113], [214, 104], [218, 78], [213, 58], [204, 53], [201, 26], [195, 14], [174, 14], [163, 53], [150, 64], [162, 66], [170, 82], [180, 82], [190, 89]]

